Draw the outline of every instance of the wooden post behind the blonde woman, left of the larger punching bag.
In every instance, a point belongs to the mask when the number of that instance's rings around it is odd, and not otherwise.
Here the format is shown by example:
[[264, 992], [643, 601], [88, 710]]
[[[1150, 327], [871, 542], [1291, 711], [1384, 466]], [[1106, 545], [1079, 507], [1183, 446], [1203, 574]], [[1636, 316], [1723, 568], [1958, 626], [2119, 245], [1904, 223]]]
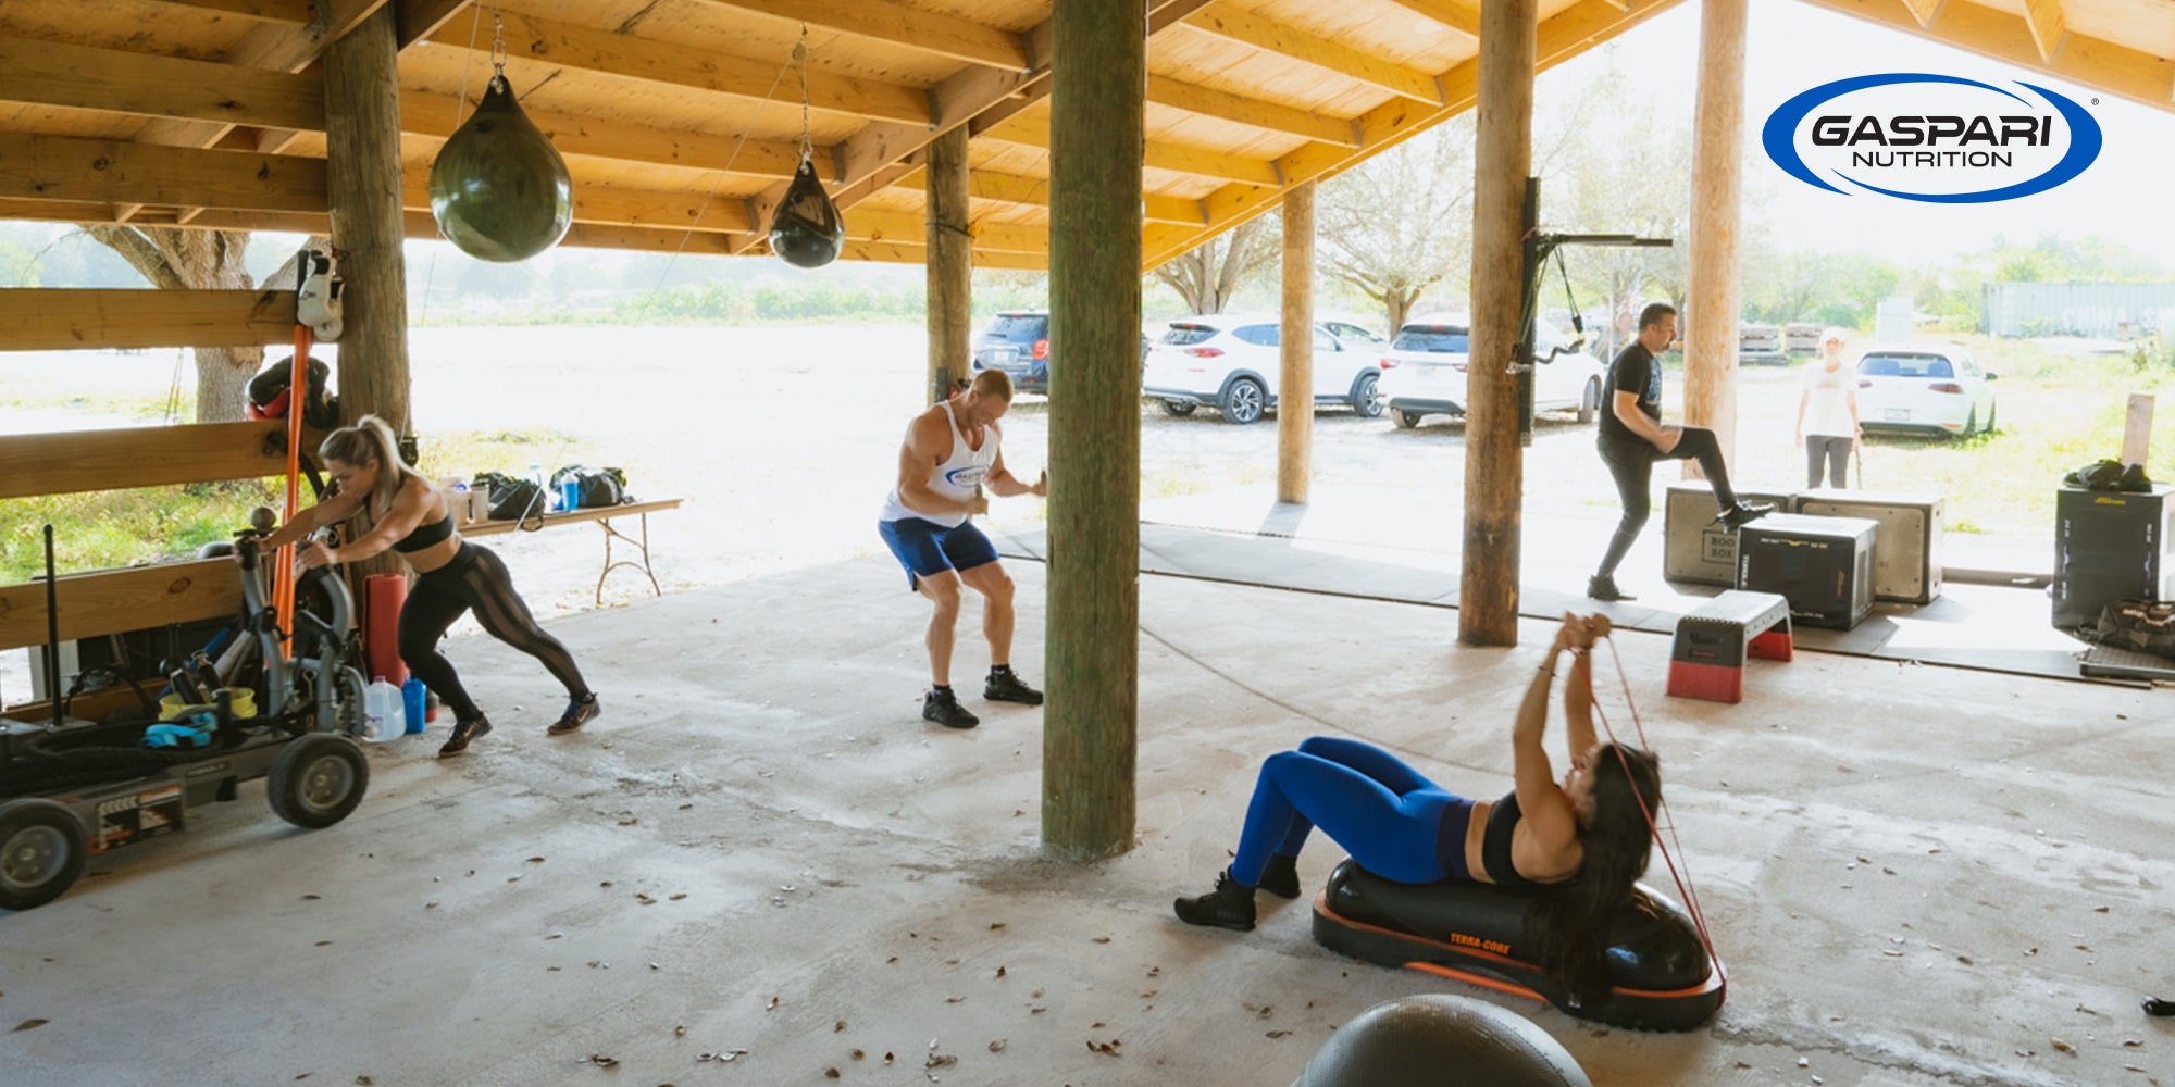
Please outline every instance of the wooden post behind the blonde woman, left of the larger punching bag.
[[333, 246], [348, 280], [339, 337], [344, 422], [409, 433], [407, 263], [400, 241], [400, 72], [385, 4], [324, 50], [324, 157]]

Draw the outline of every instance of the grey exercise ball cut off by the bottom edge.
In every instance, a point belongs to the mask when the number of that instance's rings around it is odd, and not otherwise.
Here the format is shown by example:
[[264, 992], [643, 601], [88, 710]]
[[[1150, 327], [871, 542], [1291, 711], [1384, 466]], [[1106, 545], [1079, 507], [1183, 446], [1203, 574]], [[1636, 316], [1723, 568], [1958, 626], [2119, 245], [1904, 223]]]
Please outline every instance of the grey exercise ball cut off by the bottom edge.
[[1466, 996], [1375, 1004], [1338, 1028], [1292, 1087], [1594, 1087], [1546, 1030]]

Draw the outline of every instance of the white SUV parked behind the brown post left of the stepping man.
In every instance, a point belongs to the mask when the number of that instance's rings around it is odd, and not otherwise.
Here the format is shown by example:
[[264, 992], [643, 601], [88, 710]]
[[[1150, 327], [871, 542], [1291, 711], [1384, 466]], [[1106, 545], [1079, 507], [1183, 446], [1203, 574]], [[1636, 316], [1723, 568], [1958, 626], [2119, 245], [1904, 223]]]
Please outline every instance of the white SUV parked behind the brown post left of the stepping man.
[[[1405, 322], [1381, 365], [1383, 407], [1399, 426], [1420, 426], [1427, 415], [1466, 413], [1470, 326], [1440, 315]], [[1577, 411], [1594, 422], [1601, 409], [1601, 361], [1577, 350], [1559, 328], [1540, 322], [1533, 333], [1533, 411]]]

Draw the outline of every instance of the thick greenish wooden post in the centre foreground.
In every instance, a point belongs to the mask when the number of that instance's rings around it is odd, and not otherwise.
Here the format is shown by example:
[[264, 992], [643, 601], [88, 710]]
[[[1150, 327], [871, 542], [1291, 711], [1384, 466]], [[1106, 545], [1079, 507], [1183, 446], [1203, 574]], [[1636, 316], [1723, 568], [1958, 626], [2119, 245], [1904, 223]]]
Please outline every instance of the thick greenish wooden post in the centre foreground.
[[1142, 0], [1051, 15], [1051, 561], [1042, 850], [1133, 848], [1140, 715]]

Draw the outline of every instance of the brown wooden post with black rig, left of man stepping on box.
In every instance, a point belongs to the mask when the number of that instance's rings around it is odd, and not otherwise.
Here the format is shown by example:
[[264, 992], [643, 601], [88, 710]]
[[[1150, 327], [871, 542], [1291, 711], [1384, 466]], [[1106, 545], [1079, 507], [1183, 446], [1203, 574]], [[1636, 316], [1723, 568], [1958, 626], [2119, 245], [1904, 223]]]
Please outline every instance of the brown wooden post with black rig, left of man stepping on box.
[[[1533, 165], [1538, 0], [1481, 7], [1479, 130], [1472, 146], [1472, 365], [1466, 372], [1466, 541], [1457, 641], [1518, 644], [1525, 450], [1518, 446], [1518, 313], [1525, 307], [1525, 189]], [[1599, 467], [1599, 465], [1596, 465]]]

